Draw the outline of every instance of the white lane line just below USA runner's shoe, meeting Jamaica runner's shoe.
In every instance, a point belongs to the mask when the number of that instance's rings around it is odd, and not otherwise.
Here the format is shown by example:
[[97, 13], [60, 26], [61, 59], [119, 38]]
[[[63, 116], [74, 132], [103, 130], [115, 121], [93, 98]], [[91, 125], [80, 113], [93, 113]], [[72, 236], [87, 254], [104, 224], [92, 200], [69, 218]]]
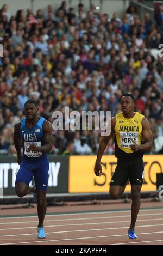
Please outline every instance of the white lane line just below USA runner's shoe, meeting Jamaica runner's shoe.
[[[147, 234], [160, 234], [163, 233], [163, 231], [157, 231], [157, 232], [148, 232], [148, 233], [136, 233], [137, 235], [147, 235]], [[86, 237], [76, 237], [76, 238], [68, 238], [68, 239], [53, 239], [53, 240], [41, 240], [41, 241], [29, 241], [29, 242], [15, 242], [15, 243], [1, 243], [0, 245], [20, 245], [24, 243], [40, 243], [40, 242], [58, 242], [58, 241], [71, 241], [71, 240], [89, 240], [89, 239], [95, 239], [95, 238], [104, 238], [104, 237], [119, 237], [119, 236], [126, 236], [127, 234], [122, 235], [105, 235], [105, 236], [86, 236]]]

